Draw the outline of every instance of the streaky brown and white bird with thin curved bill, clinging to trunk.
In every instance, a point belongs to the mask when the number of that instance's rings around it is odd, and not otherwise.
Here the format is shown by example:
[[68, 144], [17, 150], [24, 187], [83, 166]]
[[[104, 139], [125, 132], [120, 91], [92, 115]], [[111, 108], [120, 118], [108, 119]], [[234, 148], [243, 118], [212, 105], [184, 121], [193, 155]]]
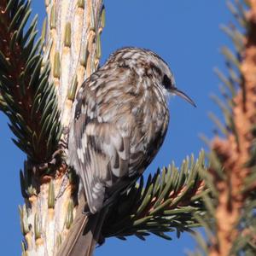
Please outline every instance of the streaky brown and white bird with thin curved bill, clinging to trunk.
[[[166, 61], [149, 49], [137, 47], [113, 52], [81, 85], [73, 102], [68, 159], [79, 176], [87, 221], [92, 218], [102, 223], [101, 212], [106, 212], [154, 160], [166, 137], [172, 95], [195, 106], [177, 89]], [[80, 231], [76, 232], [81, 234], [75, 235], [67, 255], [75, 255], [72, 252], [79, 236], [86, 237], [83, 224], [77, 226]], [[96, 229], [96, 224], [91, 226]], [[96, 244], [93, 233], [87, 243], [90, 249], [86, 251], [86, 242], [80, 242], [78, 250], [84, 251], [79, 255], [91, 255], [89, 251]]]

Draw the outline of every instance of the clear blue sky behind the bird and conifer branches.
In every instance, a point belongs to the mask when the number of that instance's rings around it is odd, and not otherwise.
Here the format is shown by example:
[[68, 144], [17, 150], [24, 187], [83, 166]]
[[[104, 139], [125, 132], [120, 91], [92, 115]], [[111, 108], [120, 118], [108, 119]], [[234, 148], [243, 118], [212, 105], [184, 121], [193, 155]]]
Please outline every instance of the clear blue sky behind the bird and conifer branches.
[[[38, 13], [42, 22], [44, 1], [32, 3], [33, 13]], [[180, 98], [171, 99], [171, 122], [166, 141], [147, 173], [154, 172], [158, 166], [168, 165], [172, 160], [180, 165], [188, 154], [197, 156], [205, 146], [198, 135], [204, 133], [212, 137], [214, 125], [207, 113], [219, 114], [209, 95], [218, 93], [219, 83], [212, 72], [213, 67], [224, 68], [219, 49], [230, 44], [219, 30], [221, 23], [227, 24], [232, 20], [225, 1], [106, 0], [105, 6], [107, 17], [102, 33], [102, 62], [113, 50], [123, 46], [152, 49], [172, 68], [177, 87], [191, 96], [197, 105], [193, 108]], [[12, 134], [7, 122], [0, 113], [0, 244], [3, 255], [18, 255], [21, 241], [18, 205], [22, 204], [19, 171], [25, 155], [11, 142]], [[178, 256], [195, 248], [191, 236], [183, 234], [178, 240], [174, 233], [171, 236], [172, 241], [155, 236], [150, 236], [147, 241], [135, 237], [128, 238], [128, 241], [111, 238], [96, 249], [96, 256], [141, 253]]]

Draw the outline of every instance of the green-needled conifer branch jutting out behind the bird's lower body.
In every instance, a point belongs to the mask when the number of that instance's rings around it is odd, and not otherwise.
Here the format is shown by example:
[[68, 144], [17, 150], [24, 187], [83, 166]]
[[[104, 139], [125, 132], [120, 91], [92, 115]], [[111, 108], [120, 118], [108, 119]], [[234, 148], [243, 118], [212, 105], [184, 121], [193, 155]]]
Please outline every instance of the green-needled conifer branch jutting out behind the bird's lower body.
[[177, 237], [183, 231], [192, 232], [200, 225], [195, 215], [204, 216], [202, 201], [207, 190], [200, 172], [206, 171], [201, 152], [196, 161], [193, 155], [190, 160], [184, 160], [180, 170], [172, 163], [153, 177], [149, 175], [145, 186], [141, 177], [139, 183], [116, 201], [103, 225], [102, 235], [122, 240], [135, 235], [144, 240], [152, 233], [170, 240], [167, 232], [176, 230]]

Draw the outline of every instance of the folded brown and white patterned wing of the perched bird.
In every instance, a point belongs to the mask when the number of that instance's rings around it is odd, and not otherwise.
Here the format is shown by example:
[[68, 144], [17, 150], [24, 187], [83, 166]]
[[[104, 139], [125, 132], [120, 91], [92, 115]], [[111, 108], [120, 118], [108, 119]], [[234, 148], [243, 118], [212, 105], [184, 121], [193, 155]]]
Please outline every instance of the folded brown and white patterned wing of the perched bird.
[[106, 188], [112, 188], [127, 176], [129, 137], [124, 137], [116, 125], [99, 120], [96, 98], [84, 90], [77, 97], [71, 141], [76, 156], [73, 166], [79, 172], [85, 195], [94, 213], [101, 209]]

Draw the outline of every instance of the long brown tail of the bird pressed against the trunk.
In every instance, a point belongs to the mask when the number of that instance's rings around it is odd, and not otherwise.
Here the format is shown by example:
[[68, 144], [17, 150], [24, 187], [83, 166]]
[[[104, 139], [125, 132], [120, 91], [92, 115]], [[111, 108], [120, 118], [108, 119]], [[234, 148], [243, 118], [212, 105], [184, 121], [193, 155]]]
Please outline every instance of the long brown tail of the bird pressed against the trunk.
[[[84, 196], [83, 196], [84, 197]], [[79, 201], [76, 217], [62, 243], [57, 256], [91, 256], [101, 236], [102, 224], [106, 210], [102, 209], [94, 215], [86, 215], [84, 199]]]

